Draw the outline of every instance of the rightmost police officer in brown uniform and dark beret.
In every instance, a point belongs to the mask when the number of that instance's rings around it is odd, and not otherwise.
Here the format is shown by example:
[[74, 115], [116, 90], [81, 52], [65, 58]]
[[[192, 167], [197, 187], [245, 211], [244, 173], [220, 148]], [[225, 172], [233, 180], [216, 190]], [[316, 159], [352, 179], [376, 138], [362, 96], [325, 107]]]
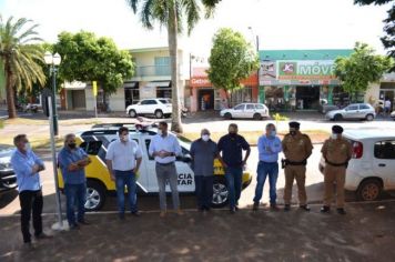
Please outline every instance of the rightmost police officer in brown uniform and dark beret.
[[353, 154], [353, 147], [343, 138], [342, 133], [342, 127], [333, 125], [332, 135], [325, 141], [321, 150], [326, 163], [324, 169], [325, 194], [324, 206], [321, 209], [322, 213], [331, 211], [334, 183], [336, 183], [337, 213], [346, 214], [344, 210], [344, 183], [348, 161]]

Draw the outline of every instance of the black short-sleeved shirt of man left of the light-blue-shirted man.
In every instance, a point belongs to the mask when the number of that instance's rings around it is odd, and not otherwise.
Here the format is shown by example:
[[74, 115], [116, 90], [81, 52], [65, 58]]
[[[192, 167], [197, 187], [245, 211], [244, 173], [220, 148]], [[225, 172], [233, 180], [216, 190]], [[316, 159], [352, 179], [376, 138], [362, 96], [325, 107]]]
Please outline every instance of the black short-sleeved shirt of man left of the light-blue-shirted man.
[[243, 162], [243, 150], [249, 150], [250, 144], [245, 139], [236, 134], [234, 137], [226, 134], [219, 141], [219, 152], [222, 152], [223, 161], [232, 168], [239, 168]]

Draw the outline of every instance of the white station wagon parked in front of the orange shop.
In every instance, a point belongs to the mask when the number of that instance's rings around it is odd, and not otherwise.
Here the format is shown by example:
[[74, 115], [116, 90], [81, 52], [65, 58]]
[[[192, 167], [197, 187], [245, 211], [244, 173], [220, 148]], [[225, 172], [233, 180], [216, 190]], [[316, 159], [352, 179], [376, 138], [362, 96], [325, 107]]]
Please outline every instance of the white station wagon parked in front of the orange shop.
[[220, 112], [225, 119], [255, 119], [269, 118], [269, 109], [263, 103], [241, 103], [231, 109], [223, 109]]

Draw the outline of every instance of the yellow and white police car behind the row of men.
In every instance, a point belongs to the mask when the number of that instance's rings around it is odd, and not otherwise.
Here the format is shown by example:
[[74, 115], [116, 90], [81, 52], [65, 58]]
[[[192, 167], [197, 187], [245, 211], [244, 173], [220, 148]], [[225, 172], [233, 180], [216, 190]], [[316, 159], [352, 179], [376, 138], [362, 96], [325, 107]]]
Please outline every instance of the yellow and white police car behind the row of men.
[[[77, 143], [89, 154], [92, 163], [87, 167], [87, 202], [88, 211], [100, 210], [108, 193], [115, 191], [115, 184], [110, 179], [110, 173], [105, 164], [105, 152], [109, 144], [119, 139], [118, 129], [126, 127], [130, 130], [130, 138], [133, 139], [143, 151], [143, 159], [138, 173], [138, 191], [140, 194], [152, 194], [159, 192], [154, 158], [149, 155], [149, 147], [152, 138], [158, 133], [156, 128], [152, 127], [135, 127], [134, 124], [114, 123], [94, 125], [91, 130], [77, 133]], [[136, 129], [138, 128], [138, 129]], [[193, 193], [195, 190], [194, 174], [190, 167], [191, 141], [183, 137], [178, 137], [182, 148], [182, 157], [175, 161], [179, 177], [179, 192]], [[243, 173], [243, 188], [251, 183], [251, 173]], [[59, 171], [59, 188], [63, 189], [63, 180], [61, 171]], [[170, 189], [166, 189], [168, 191]], [[224, 178], [224, 169], [220, 161], [214, 163], [214, 185], [213, 185], [212, 206], [220, 208], [227, 203], [227, 185]]]

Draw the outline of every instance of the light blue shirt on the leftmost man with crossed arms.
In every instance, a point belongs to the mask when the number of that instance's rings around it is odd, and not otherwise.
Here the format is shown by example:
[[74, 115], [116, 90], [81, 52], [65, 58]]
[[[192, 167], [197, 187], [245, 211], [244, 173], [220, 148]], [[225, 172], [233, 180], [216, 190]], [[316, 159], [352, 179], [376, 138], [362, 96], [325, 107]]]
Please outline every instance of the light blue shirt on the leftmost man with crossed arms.
[[12, 169], [17, 174], [18, 191], [26, 190], [37, 191], [41, 190], [41, 182], [39, 173], [32, 173], [34, 164], [44, 165], [42, 160], [34, 154], [33, 151], [28, 150], [26, 154], [18, 149], [11, 157]]

